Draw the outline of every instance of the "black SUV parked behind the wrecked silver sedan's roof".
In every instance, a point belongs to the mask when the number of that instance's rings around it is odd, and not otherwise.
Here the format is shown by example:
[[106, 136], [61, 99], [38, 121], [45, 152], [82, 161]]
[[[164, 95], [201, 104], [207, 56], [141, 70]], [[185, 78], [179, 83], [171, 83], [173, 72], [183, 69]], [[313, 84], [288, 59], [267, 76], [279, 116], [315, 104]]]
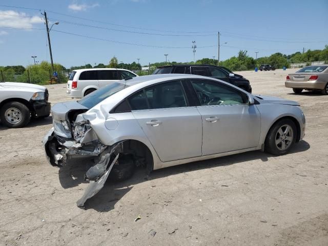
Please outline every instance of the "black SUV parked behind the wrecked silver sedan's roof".
[[245, 79], [242, 75], [234, 74], [225, 67], [212, 65], [169, 65], [158, 67], [153, 72], [153, 74], [165, 73], [196, 74], [217, 78], [252, 93], [252, 87], [248, 79]]

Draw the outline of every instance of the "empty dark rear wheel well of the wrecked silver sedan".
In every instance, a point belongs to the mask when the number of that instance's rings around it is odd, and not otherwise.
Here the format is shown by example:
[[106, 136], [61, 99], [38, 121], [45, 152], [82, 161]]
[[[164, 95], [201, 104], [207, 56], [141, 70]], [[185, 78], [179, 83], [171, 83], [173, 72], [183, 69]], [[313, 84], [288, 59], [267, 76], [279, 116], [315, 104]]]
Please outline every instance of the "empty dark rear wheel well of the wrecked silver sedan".
[[126, 140], [122, 142], [120, 152], [124, 154], [132, 154], [135, 165], [146, 168], [150, 173], [154, 169], [154, 159], [149, 148], [138, 140]]

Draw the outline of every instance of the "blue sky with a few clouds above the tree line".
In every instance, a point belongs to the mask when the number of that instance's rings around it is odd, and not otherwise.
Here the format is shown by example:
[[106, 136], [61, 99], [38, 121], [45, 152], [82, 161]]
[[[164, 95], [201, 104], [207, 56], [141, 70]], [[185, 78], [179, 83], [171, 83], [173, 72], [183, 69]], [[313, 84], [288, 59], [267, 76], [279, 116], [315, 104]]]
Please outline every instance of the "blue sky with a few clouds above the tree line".
[[69, 68], [98, 63], [220, 60], [247, 50], [255, 58], [323, 49], [328, 1], [1, 0], [0, 66], [50, 61]]

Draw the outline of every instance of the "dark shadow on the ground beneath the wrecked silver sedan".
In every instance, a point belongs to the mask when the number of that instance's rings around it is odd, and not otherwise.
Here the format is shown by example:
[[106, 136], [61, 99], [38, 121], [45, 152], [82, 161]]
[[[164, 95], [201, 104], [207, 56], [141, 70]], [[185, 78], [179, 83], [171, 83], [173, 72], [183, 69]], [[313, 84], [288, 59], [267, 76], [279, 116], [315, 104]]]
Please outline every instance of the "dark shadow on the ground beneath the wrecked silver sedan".
[[[302, 140], [296, 144], [291, 153], [303, 152], [310, 149], [308, 142]], [[215, 168], [220, 166], [233, 165], [240, 162], [251, 161], [256, 159], [261, 159], [263, 162], [269, 160], [273, 155], [260, 152], [251, 151], [241, 154], [235, 154], [230, 156], [224, 156], [209, 160], [195, 161], [186, 163], [179, 166], [164, 168], [160, 170], [153, 171], [149, 176], [144, 169], [138, 169], [132, 178], [126, 181], [114, 182], [107, 180], [103, 189], [99, 191], [94, 197], [90, 198], [85, 203], [85, 209], [94, 209], [98, 212], [108, 212], [114, 209], [115, 203], [127, 194], [133, 186], [137, 183], [147, 182], [148, 180], [154, 180], [157, 178], [167, 177], [169, 175], [176, 175], [180, 173], [188, 173], [191, 171], [197, 171], [207, 168]], [[85, 161], [77, 161], [76, 163], [70, 165], [66, 168], [60, 168], [59, 170], [59, 180], [63, 188], [71, 188], [77, 186], [81, 182], [87, 182], [83, 180], [84, 173], [87, 167], [84, 163]]]

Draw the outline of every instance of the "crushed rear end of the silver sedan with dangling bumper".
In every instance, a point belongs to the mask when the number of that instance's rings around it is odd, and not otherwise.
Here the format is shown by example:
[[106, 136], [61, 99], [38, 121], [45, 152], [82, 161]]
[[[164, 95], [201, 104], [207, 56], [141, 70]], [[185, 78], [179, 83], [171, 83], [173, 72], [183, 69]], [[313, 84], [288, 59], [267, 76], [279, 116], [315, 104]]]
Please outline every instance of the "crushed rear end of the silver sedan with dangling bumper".
[[52, 166], [66, 166], [68, 159], [93, 159], [90, 161], [93, 165], [84, 177], [90, 183], [77, 201], [78, 207], [84, 207], [86, 200], [104, 187], [122, 148], [122, 142], [113, 146], [100, 142], [89, 119], [86, 119], [84, 113], [87, 110], [77, 102], [56, 104], [52, 109], [53, 128], [43, 139], [46, 157]]

